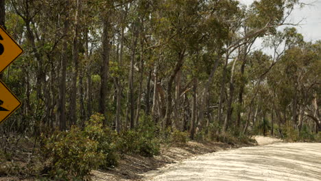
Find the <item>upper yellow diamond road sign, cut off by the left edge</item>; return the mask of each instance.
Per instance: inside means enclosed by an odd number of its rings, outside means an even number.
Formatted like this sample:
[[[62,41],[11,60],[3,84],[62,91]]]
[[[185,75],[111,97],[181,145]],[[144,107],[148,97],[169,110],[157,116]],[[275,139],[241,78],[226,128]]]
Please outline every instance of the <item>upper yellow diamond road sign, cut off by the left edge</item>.
[[[23,53],[23,49],[0,26],[0,73],[21,53]]]

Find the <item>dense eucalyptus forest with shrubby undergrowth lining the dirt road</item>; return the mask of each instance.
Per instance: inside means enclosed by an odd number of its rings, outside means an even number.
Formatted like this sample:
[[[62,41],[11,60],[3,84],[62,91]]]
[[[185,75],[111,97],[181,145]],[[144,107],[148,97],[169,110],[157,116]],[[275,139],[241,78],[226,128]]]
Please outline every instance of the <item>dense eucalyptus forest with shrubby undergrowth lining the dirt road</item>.
[[[189,141],[321,142],[321,41],[287,20],[300,5],[0,1],[24,49],[0,75],[23,102],[0,125],[0,177],[89,180]]]

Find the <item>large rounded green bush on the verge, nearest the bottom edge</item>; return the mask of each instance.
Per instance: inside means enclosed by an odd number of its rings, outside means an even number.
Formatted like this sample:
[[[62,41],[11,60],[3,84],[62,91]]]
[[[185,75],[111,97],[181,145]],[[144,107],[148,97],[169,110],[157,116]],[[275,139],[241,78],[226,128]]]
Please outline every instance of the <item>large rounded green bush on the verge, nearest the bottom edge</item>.
[[[102,164],[104,154],[97,151],[98,145],[75,127],[53,134],[42,148],[49,160],[49,176],[56,180],[83,180]]]

